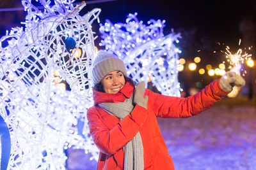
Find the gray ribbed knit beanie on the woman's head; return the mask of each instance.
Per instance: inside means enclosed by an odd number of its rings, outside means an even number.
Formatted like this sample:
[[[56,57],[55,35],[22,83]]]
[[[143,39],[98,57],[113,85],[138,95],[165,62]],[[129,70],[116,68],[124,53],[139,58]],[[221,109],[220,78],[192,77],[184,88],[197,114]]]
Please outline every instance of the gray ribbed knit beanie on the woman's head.
[[[92,81],[93,85],[99,83],[106,74],[111,71],[121,71],[127,76],[124,62],[115,55],[99,50],[92,64]]]

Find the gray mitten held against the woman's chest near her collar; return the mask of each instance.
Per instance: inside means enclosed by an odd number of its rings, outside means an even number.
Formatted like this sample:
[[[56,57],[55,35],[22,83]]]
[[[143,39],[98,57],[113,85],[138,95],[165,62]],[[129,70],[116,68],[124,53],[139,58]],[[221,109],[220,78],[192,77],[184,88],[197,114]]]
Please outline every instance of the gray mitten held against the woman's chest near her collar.
[[[144,97],[144,93],[145,82],[141,81],[135,89],[133,103],[138,104],[147,110],[148,96]]]

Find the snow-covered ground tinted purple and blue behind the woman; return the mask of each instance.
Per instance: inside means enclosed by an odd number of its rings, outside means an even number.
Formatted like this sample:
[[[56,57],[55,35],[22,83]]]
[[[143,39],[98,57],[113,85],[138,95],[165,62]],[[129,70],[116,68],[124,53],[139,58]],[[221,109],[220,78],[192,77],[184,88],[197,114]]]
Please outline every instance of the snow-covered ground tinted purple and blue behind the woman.
[[[158,118],[176,170],[256,169],[256,109],[213,106],[191,118]],[[69,170],[96,169],[83,150],[68,150]]]

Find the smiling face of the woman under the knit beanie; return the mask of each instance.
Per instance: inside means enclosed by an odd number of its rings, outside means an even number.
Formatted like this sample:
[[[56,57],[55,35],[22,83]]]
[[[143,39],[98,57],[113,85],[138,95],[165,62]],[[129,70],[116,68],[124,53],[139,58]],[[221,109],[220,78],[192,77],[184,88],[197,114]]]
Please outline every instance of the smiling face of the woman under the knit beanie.
[[[124,74],[121,71],[112,71],[101,80],[106,93],[116,94],[125,85]]]

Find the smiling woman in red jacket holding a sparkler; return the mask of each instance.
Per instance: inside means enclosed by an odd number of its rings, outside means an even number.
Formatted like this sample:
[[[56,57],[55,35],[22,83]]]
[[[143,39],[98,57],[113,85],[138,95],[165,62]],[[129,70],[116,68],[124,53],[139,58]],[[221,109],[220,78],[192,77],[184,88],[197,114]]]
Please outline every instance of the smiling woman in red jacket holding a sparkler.
[[[122,60],[100,50],[92,64],[94,106],[87,119],[99,148],[97,169],[169,169],[172,157],[157,124],[157,117],[186,118],[211,108],[233,85],[244,80],[234,72],[213,81],[187,98],[156,94],[127,78]]]

